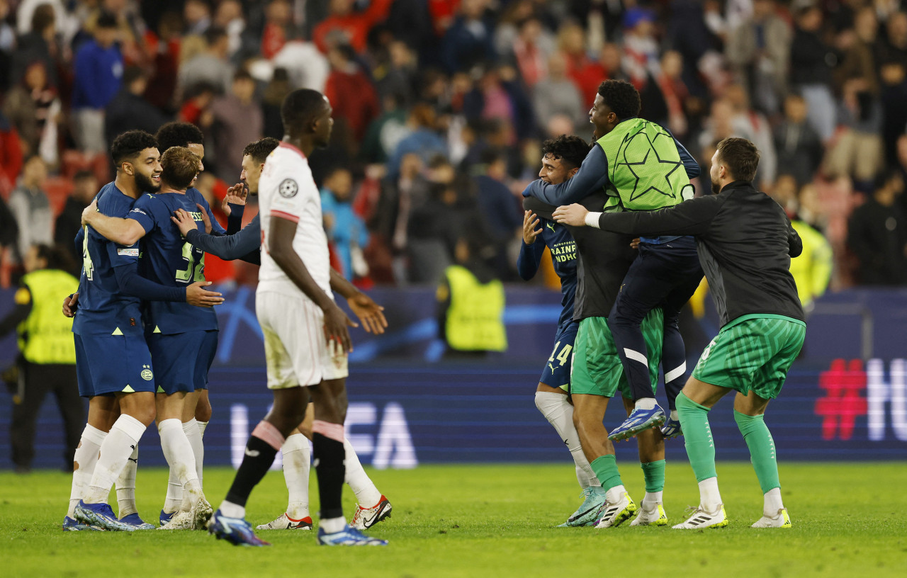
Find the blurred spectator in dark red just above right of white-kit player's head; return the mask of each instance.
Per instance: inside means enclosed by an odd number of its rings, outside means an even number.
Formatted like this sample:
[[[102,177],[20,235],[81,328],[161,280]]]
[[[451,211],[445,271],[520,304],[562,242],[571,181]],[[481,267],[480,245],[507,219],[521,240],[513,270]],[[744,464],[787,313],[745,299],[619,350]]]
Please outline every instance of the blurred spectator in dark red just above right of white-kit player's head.
[[[334,108],[334,120],[346,123],[352,139],[346,143],[350,151],[358,149],[368,124],[380,113],[375,87],[354,60],[355,56],[348,44],[330,48],[327,61],[331,63],[331,73],[325,85],[325,96]]]

